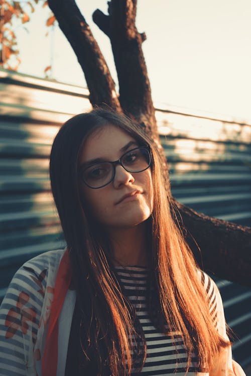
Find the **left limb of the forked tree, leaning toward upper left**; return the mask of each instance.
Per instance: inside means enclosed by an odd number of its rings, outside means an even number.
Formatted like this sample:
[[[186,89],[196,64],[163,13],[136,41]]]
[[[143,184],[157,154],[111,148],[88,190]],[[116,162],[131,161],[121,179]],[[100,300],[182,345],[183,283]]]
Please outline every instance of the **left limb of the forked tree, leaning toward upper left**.
[[[84,72],[91,104],[106,104],[120,112],[121,107],[107,64],[75,1],[48,0],[48,5]]]

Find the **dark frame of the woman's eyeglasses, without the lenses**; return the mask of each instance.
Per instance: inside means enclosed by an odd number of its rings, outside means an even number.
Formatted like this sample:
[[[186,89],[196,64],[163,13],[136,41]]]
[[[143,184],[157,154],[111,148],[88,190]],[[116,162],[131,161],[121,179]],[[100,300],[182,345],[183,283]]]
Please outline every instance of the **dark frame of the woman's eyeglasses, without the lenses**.
[[[147,166],[146,168],[144,168],[143,170],[139,170],[139,171],[131,171],[130,169],[124,167],[123,163],[121,162],[121,159],[122,159],[123,156],[126,155],[127,153],[130,153],[131,151],[138,150],[138,149],[144,149],[144,150],[146,150],[146,151],[148,152],[148,155],[149,155],[149,164],[148,164],[148,166]],[[87,182],[85,181],[84,176],[83,176],[83,175],[84,175],[84,172],[85,172],[88,168],[90,168],[90,167],[92,167],[92,166],[95,166],[96,164],[102,164],[102,163],[110,163],[110,164],[112,165],[112,167],[113,167],[113,172],[112,172],[112,175],[111,175],[111,178],[109,179],[109,181],[108,181],[107,183],[101,185],[101,186],[98,186],[98,187],[93,187],[93,186],[87,184]],[[135,147],[134,149],[131,149],[131,150],[126,151],[126,152],[123,153],[123,154],[120,156],[120,158],[117,159],[117,160],[114,160],[114,161],[109,161],[109,160],[107,160],[107,161],[103,161],[103,162],[99,162],[99,163],[93,163],[93,164],[90,164],[88,167],[84,168],[84,169],[80,172],[80,177],[81,177],[81,180],[85,183],[85,185],[87,185],[89,188],[91,188],[92,190],[98,190],[99,188],[102,188],[103,186],[108,185],[108,184],[114,179],[114,177],[115,177],[115,173],[116,173],[116,169],[115,169],[115,168],[116,168],[117,165],[122,166],[122,167],[123,167],[126,171],[128,171],[128,172],[131,172],[131,173],[138,173],[138,172],[143,172],[143,171],[147,170],[147,169],[151,166],[151,164],[152,164],[152,155],[151,155],[151,152],[150,152],[150,147],[147,147],[147,146],[138,146],[138,147]]]

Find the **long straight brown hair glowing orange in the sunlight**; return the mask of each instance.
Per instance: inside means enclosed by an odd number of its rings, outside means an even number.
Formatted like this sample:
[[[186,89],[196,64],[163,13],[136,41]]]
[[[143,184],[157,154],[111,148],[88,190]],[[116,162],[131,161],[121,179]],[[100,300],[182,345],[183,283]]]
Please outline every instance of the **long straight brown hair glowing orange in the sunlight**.
[[[140,126],[102,109],[68,120],[55,137],[50,157],[52,193],[83,316],[84,362],[86,366],[94,362],[97,375],[125,376],[133,368],[142,369],[147,351],[142,327],[113,268],[109,239],[88,218],[79,192],[78,158],[83,142],[94,129],[107,124],[120,127],[140,145],[151,148],[154,209],[147,220],[152,243],[149,314],[162,333],[180,333],[188,356],[187,371],[192,352],[198,355],[198,369],[210,369],[228,343],[213,326],[193,255],[172,218],[170,187],[165,184],[158,150]],[[134,348],[136,360],[131,352]]]

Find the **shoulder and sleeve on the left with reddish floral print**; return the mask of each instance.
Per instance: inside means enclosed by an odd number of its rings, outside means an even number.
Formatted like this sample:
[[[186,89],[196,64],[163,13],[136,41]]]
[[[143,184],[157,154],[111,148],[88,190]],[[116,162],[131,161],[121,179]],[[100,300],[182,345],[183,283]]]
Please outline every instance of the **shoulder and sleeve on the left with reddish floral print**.
[[[0,307],[0,368],[26,374],[33,369],[38,329],[48,318],[54,281],[64,250],[49,251],[27,261],[14,275]],[[42,320],[42,321],[41,321]],[[15,360],[15,369],[12,360]]]

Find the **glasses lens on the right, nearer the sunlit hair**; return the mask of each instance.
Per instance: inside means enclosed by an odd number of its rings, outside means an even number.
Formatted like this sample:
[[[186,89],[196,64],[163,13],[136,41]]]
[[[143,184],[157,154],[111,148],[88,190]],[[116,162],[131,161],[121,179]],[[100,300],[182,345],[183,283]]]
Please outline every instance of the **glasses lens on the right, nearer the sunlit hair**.
[[[144,171],[150,166],[150,153],[143,147],[130,150],[122,156],[121,163],[130,172]]]

